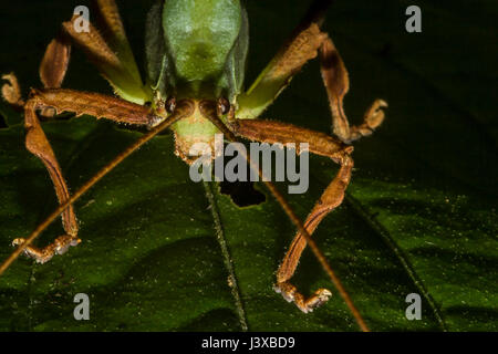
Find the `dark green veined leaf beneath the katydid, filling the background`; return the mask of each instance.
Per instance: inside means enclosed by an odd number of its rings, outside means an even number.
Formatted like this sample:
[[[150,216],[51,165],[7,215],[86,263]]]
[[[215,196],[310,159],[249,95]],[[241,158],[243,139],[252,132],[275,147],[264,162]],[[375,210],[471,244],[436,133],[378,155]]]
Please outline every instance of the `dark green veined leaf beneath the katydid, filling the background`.
[[[307,7],[286,4],[248,3],[248,83]],[[409,4],[336,1],[329,12],[325,30],[352,82],[350,119],[359,122],[376,97],[390,108],[383,126],[355,143],[346,199],[314,238],[372,330],[497,331],[497,6],[419,1],[423,32],[409,34]],[[9,51],[1,70],[15,71],[24,88],[39,86],[44,45],[74,6],[0,4],[9,14],[0,31],[15,33],[2,39]],[[149,3],[118,6],[139,59]],[[39,17],[45,8],[53,17]],[[77,52],[64,86],[111,92]],[[23,146],[22,116],[4,103],[0,113],[9,124],[0,128],[3,260],[11,240],[29,235],[56,200],[43,165]],[[263,116],[329,132],[318,64],[307,65]],[[43,127],[73,191],[141,135],[87,116]],[[289,197],[301,218],[338,170],[321,157],[310,163],[310,190]],[[156,137],[76,202],[79,247],[43,266],[20,258],[0,278],[0,330],[240,331],[245,323],[250,331],[357,331],[309,250],[294,283],[305,293],[329,288],[333,298],[303,314],[272,291],[295,230],[263,187],[266,201],[245,208],[208,187],[190,181],[170,135]],[[35,243],[61,233],[54,222]],[[90,296],[90,321],[73,317],[76,293]],[[422,296],[421,321],[405,317],[409,293]]]

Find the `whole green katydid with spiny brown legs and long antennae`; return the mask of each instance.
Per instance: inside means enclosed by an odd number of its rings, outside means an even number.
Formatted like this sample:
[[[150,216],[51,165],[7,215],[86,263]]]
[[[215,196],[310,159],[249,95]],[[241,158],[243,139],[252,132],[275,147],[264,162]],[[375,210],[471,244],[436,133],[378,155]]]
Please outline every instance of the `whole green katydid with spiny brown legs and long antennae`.
[[[156,1],[146,21],[145,80],[141,77],[113,0],[96,1],[106,31],[97,31],[92,23],[89,23],[89,31],[76,31],[75,22],[81,20],[77,15],[64,22],[61,34],[48,45],[40,65],[43,88],[32,88],[29,98],[23,100],[17,77],[13,74],[2,76],[7,81],[2,96],[23,110],[25,146],[45,165],[60,206],[28,238],[13,241],[18,248],[0,267],[0,274],[20,253],[44,263],[54,254],[62,254],[71,246],[79,244],[81,240],[74,201],[129,154],[166,128],[175,135],[175,154],[187,164],[193,164],[198,157],[191,155],[194,144],[212,145],[215,134],[219,133],[230,142],[246,138],[282,145],[308,143],[311,153],[331,158],[340,165],[340,169],[304,222],[300,221],[273,184],[263,180],[297,227],[297,235],[279,267],[274,290],[287,301],[294,302],[304,313],[328,301],[331,295],[329,290],[319,289],[305,298],[290,282],[308,244],[344,298],[360,327],[366,331],[364,320],[311,235],[321,220],[343,200],[353,168],[351,143],[373,133],[383,122],[383,108],[387,105],[376,100],[366,111],[362,124],[349,124],[343,111],[343,97],[349,90],[347,72],[332,40],[320,29],[330,2],[313,2],[290,39],[247,91],[243,90],[243,79],[249,49],[249,21],[241,1]],[[117,97],[61,88],[73,44],[87,55]],[[293,75],[317,56],[330,103],[333,135],[282,122],[259,119],[289,85]],[[40,115],[53,116],[61,112],[143,126],[149,132],[70,195],[39,119]],[[250,157],[246,158],[250,164]],[[261,175],[260,170],[258,173]],[[31,246],[60,215],[65,233],[44,248]]]

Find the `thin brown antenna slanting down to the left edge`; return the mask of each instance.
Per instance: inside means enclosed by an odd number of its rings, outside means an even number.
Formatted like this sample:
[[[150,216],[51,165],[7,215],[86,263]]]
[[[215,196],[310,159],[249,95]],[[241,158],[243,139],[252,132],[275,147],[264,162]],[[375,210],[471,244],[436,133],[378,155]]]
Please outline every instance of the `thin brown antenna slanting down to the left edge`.
[[[158,124],[156,127],[151,129],[148,133],[141,136],[135,143],[128,146],[125,150],[123,150],[118,156],[116,156],[112,162],[105,165],[101,170],[98,170],[90,180],[87,180],[83,186],[80,187],[76,192],[74,192],[65,202],[61,204],[43,222],[41,222],[31,235],[24,240],[22,244],[20,244],[15,251],[13,251],[9,258],[7,258],[3,263],[0,266],[0,275],[10,267],[10,264],[22,253],[22,251],[31,244],[31,242],[40,236],[40,233],[49,227],[49,225],[55,220],[59,215],[64,211],[71,204],[75,202],[83,196],[90,188],[92,188],[98,180],[102,179],[105,175],[107,175],[114,167],[120,165],[126,157],[133,154],[136,149],[138,149],[142,145],[151,140],[158,133],[163,132],[167,127],[169,127],[175,122],[187,116],[191,111],[191,106],[189,103],[185,103],[184,105],[178,104],[175,112]]]

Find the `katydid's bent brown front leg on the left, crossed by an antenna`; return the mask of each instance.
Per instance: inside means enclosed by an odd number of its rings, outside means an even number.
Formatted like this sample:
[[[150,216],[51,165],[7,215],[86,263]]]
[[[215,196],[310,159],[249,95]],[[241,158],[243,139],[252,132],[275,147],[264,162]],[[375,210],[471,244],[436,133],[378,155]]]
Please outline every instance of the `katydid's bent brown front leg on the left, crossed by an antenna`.
[[[154,126],[160,119],[152,114],[148,107],[102,94],[63,88],[32,90],[31,97],[24,104],[25,146],[45,165],[60,204],[69,200],[70,194],[61,167],[37,116],[37,111],[45,107],[53,107],[56,113],[70,111],[75,112],[76,115],[90,114],[97,118],[105,116],[115,122],[135,125]],[[28,246],[24,250],[25,254],[44,263],[54,254],[65,252],[70,246],[80,243],[77,221],[72,205],[62,212],[62,225],[65,235],[43,249]],[[24,239],[13,240],[15,246],[23,242]]]

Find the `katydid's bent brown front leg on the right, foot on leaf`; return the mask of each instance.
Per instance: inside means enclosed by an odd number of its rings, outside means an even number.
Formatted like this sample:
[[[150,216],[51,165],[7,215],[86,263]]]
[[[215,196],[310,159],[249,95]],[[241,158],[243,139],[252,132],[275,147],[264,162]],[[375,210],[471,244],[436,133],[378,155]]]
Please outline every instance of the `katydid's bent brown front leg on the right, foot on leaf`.
[[[237,135],[251,140],[270,144],[308,143],[311,153],[328,156],[341,165],[338,175],[317,201],[304,222],[304,228],[311,236],[320,221],[341,205],[344,198],[344,190],[350,183],[353,168],[353,159],[350,156],[353,147],[326,134],[280,122],[236,119],[230,123],[230,127]],[[274,290],[281,293],[287,301],[293,301],[301,311],[308,313],[329,300],[331,292],[326,289],[319,289],[307,299],[289,282],[305,246],[305,238],[298,232],[278,270]]]

